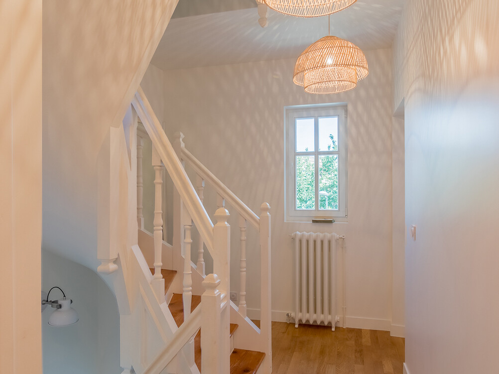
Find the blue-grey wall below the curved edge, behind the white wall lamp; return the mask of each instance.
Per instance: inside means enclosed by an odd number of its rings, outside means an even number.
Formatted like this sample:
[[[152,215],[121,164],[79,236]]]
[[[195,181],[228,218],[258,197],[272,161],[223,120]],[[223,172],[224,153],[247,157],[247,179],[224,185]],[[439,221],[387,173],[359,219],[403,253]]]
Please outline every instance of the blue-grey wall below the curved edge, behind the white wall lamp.
[[[54,309],[43,311],[44,373],[121,373],[118,305],[107,285],[90,269],[45,250],[42,275],[42,290],[62,288],[79,317],[74,325],[53,327],[48,318]],[[61,297],[57,289],[50,293],[51,300]]]

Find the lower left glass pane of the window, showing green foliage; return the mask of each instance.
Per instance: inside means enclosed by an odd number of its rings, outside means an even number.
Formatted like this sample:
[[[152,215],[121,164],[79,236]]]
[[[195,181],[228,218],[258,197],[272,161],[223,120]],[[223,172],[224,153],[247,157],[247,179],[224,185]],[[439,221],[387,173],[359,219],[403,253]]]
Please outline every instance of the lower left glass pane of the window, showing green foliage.
[[[296,209],[315,209],[314,156],[296,156]]]

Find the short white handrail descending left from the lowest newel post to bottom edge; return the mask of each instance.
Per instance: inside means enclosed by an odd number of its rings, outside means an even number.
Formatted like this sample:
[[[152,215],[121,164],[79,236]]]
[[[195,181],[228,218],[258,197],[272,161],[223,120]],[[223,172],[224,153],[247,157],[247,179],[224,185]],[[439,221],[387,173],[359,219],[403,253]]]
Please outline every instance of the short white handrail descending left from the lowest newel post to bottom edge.
[[[190,317],[179,327],[168,345],[161,351],[154,361],[144,370],[143,374],[161,373],[170,364],[179,351],[201,328],[201,306],[198,306]]]

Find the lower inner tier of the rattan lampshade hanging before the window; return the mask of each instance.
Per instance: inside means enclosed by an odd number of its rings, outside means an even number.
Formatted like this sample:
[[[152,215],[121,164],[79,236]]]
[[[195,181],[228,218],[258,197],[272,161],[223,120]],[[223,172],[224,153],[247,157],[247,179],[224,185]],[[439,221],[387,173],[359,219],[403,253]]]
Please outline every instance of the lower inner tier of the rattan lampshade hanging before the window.
[[[357,71],[345,66],[321,67],[303,74],[305,92],[333,94],[349,91],[357,86]]]

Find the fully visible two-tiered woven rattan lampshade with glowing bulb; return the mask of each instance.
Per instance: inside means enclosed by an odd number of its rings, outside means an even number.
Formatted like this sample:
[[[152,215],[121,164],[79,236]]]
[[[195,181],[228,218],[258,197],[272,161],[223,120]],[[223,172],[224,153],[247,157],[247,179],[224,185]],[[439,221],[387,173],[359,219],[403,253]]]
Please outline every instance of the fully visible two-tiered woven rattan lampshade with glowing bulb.
[[[293,82],[306,92],[331,94],[348,91],[369,74],[366,56],[355,44],[324,36],[305,49],[294,66]]]

